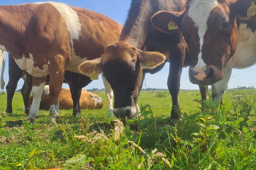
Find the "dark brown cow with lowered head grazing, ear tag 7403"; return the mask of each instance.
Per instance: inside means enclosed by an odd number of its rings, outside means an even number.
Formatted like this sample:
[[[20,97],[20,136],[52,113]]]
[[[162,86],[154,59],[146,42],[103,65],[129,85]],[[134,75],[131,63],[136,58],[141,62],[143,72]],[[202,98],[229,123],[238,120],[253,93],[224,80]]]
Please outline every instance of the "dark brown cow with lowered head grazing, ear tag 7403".
[[[114,92],[116,117],[133,118],[139,114],[137,100],[145,72],[159,71],[169,61],[167,85],[172,96],[171,118],[180,118],[178,94],[182,67],[188,63],[184,64],[187,44],[180,31],[166,35],[151,25],[150,18],[159,10],[181,12],[184,5],[183,0],[132,0],[119,42],[108,45],[101,58],[79,66],[88,76],[93,71],[103,73]]]

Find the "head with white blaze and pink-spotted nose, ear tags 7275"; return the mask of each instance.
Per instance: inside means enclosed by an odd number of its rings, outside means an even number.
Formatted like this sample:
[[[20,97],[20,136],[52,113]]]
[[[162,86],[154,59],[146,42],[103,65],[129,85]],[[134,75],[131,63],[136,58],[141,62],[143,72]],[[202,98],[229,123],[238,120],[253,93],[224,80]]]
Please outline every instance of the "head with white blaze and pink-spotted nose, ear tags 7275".
[[[211,85],[223,78],[223,68],[235,53],[238,30],[235,18],[246,17],[254,0],[189,0],[181,13],[160,11],[151,22],[169,33],[174,21],[184,35],[190,54],[189,79],[194,84]],[[255,17],[255,16],[254,16]]]

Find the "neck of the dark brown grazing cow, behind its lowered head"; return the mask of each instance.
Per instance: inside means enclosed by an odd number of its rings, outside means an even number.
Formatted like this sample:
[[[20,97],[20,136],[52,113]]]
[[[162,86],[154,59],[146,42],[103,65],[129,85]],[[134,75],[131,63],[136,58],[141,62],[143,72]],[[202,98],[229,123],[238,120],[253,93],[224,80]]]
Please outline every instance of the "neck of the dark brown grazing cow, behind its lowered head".
[[[156,4],[155,2],[154,4]],[[121,32],[119,42],[128,42],[142,49],[147,37],[147,26],[152,16],[152,2],[132,0],[128,17]]]

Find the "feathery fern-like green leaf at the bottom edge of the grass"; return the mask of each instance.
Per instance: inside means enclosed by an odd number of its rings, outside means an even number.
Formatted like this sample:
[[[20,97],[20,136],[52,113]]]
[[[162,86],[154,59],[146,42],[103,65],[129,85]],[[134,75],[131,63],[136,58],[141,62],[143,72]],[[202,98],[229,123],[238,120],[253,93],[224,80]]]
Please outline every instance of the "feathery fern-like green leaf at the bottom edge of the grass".
[[[92,157],[87,157],[84,154],[78,154],[73,158],[70,158],[69,160],[67,160],[61,170],[79,170],[82,165],[84,165],[86,162],[90,162],[93,161]]]

